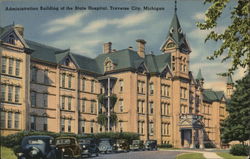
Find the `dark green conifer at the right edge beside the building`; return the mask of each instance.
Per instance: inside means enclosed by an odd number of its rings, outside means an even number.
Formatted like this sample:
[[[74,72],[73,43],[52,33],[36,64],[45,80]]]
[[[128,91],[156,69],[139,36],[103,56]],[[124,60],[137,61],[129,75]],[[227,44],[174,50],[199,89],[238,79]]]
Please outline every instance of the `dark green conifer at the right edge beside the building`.
[[[222,141],[238,140],[242,143],[250,137],[250,73],[237,81],[236,90],[227,102],[228,117],[222,123]]]

